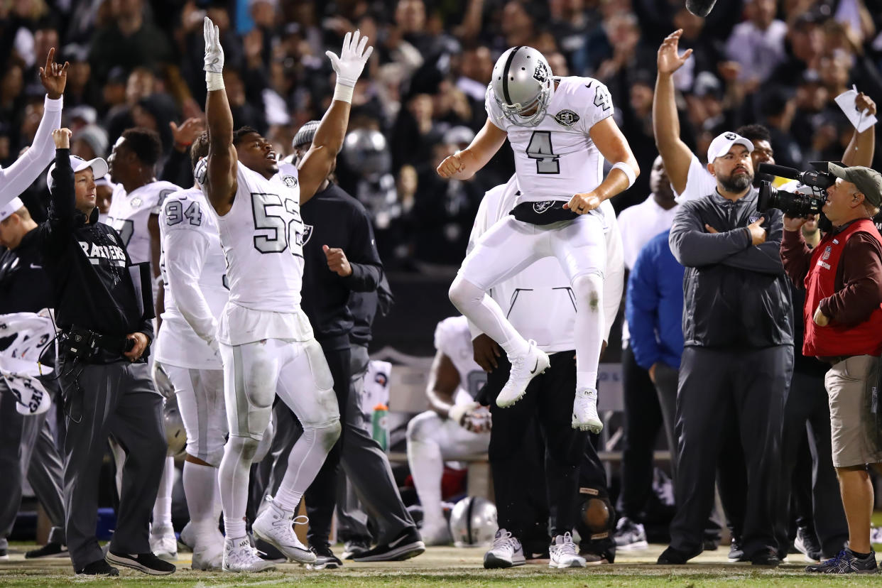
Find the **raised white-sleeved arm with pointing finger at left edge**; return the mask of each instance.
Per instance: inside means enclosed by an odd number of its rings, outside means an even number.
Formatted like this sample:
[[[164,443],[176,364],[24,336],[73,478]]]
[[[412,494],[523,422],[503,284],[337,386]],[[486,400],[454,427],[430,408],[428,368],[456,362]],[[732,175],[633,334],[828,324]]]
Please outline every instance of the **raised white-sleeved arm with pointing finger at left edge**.
[[[55,156],[55,142],[52,131],[61,126],[61,110],[64,106],[64,86],[67,83],[68,63],[55,63],[55,48],[49,49],[45,67],[40,68],[40,80],[46,88],[46,100],[43,102],[43,117],[34,142],[18,160],[4,169],[0,169],[0,206],[9,203],[27,190],[34,180],[52,163]]]

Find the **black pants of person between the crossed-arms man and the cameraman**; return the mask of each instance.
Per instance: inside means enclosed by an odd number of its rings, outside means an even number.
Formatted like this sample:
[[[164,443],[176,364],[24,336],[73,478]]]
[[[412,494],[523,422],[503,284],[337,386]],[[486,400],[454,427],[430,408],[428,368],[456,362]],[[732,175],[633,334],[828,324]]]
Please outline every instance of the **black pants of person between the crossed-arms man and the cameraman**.
[[[800,451],[808,441],[811,451],[811,477],[796,471]],[[833,469],[830,446],[830,406],[824,388],[824,376],[795,372],[784,409],[784,430],[781,440],[781,507],[779,510],[779,547],[789,547],[789,504],[791,480],[802,480],[808,487],[793,488],[793,494],[811,493],[807,505],[811,512],[805,523],[813,520],[810,532],[816,532],[824,556],[838,554],[848,540],[848,525],[839,492],[839,481]],[[798,483],[798,482],[795,482]],[[806,502],[804,499],[801,502]]]

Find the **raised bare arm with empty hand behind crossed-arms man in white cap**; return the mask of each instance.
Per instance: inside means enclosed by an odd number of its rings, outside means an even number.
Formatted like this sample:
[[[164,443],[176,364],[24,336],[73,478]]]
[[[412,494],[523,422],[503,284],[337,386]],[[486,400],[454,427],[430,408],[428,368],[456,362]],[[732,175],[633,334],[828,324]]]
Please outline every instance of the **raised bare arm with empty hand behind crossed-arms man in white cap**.
[[[686,49],[682,56],[677,51],[683,29],[670,33],[658,52],[658,77],[655,78],[653,100],[653,133],[655,146],[664,161],[671,185],[677,194],[686,189],[689,178],[689,164],[692,153],[680,138],[680,119],[676,113],[674,97],[674,72],[686,63],[692,49]]]

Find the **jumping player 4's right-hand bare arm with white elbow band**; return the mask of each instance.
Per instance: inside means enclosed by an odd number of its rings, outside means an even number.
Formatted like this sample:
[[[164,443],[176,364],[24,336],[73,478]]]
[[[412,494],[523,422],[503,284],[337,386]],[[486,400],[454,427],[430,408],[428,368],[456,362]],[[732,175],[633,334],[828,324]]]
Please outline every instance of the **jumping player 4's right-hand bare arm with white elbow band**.
[[[628,140],[611,116],[594,124],[588,134],[604,159],[613,164],[613,168],[597,188],[573,195],[570,202],[564,205],[564,208],[579,214],[593,211],[604,200],[624,192],[640,175],[640,167],[631,151],[631,145],[628,145]]]

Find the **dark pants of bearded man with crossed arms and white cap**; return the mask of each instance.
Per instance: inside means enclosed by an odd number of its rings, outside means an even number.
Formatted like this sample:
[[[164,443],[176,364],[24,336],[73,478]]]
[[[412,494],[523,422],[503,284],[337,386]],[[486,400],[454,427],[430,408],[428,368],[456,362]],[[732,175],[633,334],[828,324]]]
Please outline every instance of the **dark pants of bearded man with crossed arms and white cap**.
[[[748,480],[744,555],[777,549],[781,421],[792,372],[792,346],[684,349],[676,398],[678,458],[671,547],[690,556],[701,552],[714,505],[714,472],[727,428],[736,426]]]

